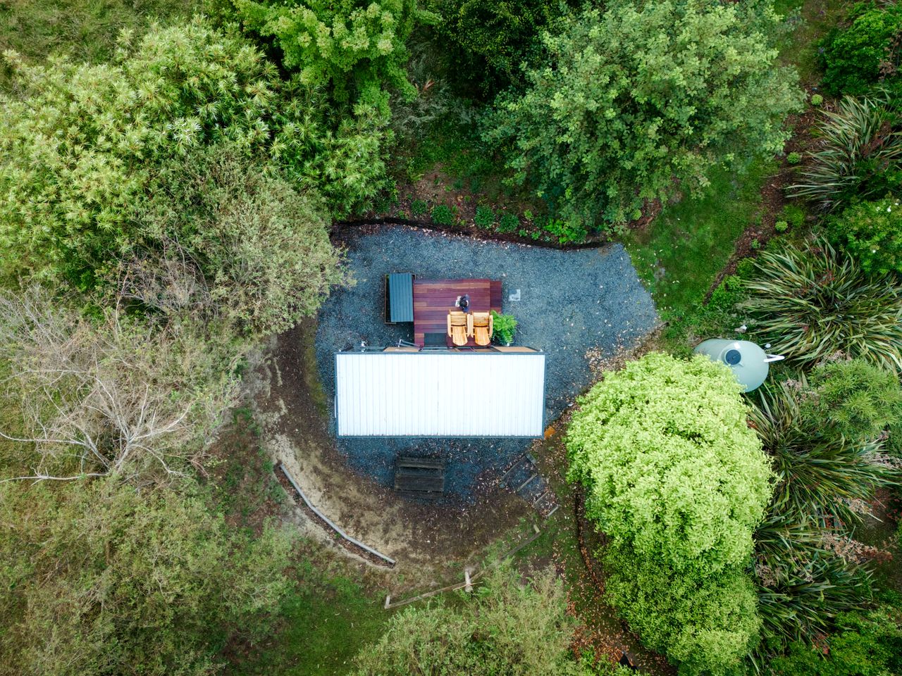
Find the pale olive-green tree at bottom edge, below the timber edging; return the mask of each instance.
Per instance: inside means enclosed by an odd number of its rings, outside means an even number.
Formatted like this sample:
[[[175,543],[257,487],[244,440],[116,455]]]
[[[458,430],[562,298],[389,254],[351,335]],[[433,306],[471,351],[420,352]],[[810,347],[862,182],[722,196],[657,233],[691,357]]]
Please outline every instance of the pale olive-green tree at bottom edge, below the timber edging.
[[[570,620],[550,571],[522,585],[510,563],[459,607],[440,600],[391,617],[382,639],[358,654],[359,676],[557,676],[572,673]]]

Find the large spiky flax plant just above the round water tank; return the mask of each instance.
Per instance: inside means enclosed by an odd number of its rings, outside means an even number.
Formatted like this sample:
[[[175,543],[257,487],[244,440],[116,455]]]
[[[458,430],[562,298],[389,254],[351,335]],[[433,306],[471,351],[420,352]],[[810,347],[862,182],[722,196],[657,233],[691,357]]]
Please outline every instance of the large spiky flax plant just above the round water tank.
[[[902,287],[871,277],[824,240],[765,251],[741,306],[776,352],[801,362],[836,352],[902,370]]]

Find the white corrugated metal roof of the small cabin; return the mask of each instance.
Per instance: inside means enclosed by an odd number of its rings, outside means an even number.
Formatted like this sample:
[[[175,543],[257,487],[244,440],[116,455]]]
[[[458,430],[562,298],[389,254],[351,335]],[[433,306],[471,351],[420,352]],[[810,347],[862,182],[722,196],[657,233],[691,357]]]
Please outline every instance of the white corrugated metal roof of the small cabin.
[[[339,352],[339,436],[541,436],[545,354]]]

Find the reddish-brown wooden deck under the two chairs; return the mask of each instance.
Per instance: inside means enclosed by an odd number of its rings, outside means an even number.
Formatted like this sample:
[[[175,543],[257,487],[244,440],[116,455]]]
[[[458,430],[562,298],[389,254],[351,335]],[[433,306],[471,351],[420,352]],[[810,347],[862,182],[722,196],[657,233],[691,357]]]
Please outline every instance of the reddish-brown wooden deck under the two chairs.
[[[420,347],[426,333],[441,333],[446,345],[453,347],[447,335],[448,312],[456,309],[458,296],[469,294],[470,312],[502,311],[502,283],[498,279],[414,279],[413,342]],[[466,344],[475,347],[473,338]]]

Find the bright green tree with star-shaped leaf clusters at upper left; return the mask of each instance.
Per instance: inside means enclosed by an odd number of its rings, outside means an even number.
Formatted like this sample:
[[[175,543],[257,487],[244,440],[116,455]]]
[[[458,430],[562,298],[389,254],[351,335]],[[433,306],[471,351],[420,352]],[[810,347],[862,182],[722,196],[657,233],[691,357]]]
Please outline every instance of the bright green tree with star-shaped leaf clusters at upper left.
[[[144,233],[134,205],[155,169],[227,142],[262,153],[342,211],[382,180],[381,120],[360,106],[331,122],[315,87],[285,83],[253,46],[195,20],[126,39],[113,64],[14,53],[21,96],[0,97],[0,275],[90,289]],[[316,201],[316,200],[314,200]]]

